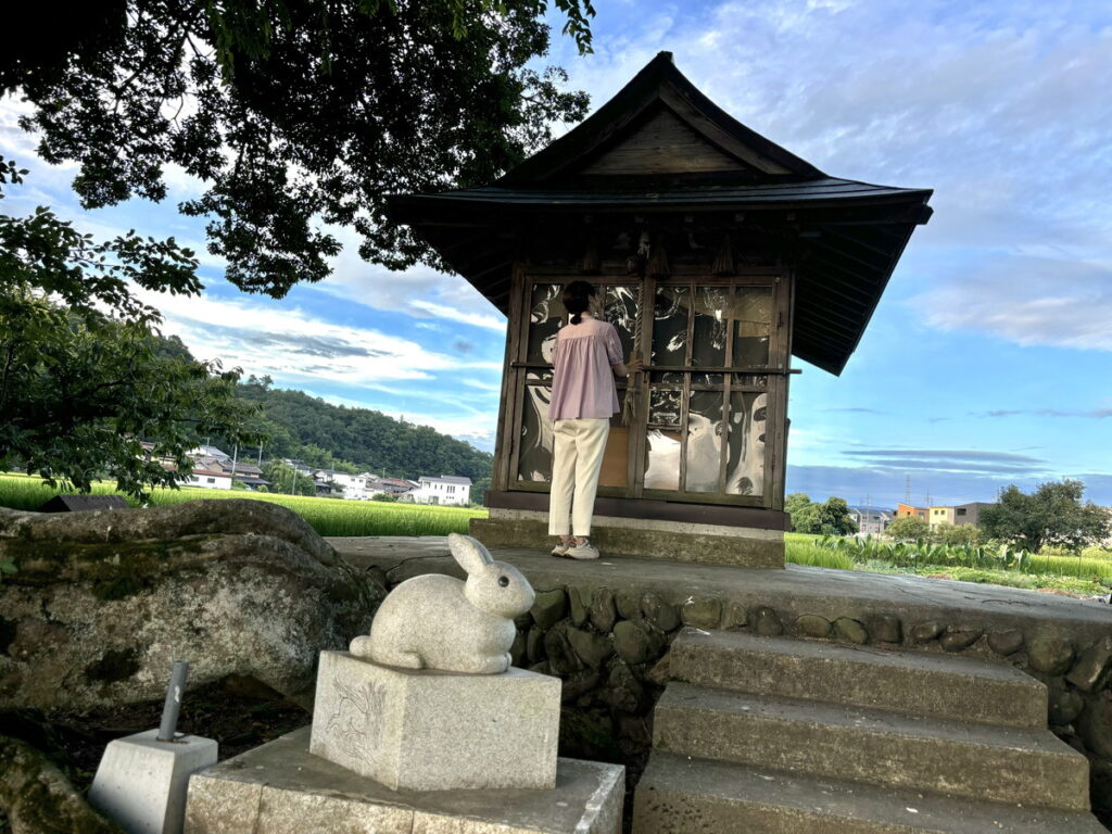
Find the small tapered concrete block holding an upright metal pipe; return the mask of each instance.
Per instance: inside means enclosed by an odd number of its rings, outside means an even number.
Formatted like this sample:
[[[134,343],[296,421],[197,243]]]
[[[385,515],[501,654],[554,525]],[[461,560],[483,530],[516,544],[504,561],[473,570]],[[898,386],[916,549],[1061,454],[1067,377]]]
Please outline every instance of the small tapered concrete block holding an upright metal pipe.
[[[180,834],[190,774],[217,761],[217,743],[196,735],[157,741],[148,729],[108,743],[89,802],[128,834]]]

